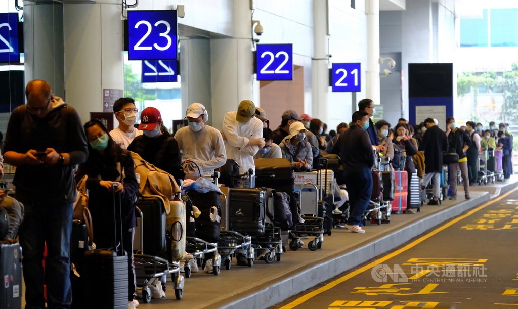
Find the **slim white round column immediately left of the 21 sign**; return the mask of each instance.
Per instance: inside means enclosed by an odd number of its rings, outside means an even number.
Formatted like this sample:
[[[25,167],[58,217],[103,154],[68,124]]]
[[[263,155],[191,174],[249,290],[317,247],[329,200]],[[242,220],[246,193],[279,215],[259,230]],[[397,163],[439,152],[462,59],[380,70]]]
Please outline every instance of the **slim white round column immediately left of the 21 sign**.
[[[311,116],[327,122],[329,66],[327,1],[313,1],[313,58],[311,60]]]

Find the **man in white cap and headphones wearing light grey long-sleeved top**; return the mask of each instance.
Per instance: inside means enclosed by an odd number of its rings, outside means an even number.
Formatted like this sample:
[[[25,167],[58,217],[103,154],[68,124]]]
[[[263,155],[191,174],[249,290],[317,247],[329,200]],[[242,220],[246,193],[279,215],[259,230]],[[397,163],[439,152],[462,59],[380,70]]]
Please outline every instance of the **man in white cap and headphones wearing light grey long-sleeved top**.
[[[203,174],[212,174],[214,169],[226,162],[221,133],[206,124],[209,115],[202,104],[191,104],[185,115],[189,126],[179,129],[175,134],[183,160],[193,160]]]

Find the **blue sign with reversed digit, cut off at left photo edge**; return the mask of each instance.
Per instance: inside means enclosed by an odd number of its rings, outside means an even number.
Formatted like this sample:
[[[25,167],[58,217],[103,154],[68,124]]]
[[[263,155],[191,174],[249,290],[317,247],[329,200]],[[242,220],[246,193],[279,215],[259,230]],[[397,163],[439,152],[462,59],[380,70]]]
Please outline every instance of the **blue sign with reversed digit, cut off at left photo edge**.
[[[0,13],[0,62],[20,62],[18,13]]]

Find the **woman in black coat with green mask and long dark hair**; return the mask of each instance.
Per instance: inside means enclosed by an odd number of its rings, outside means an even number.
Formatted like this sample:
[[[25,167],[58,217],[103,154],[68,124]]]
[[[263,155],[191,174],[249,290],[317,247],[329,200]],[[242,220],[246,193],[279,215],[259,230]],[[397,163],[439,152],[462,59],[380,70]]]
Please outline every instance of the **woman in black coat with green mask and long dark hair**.
[[[97,248],[116,248],[116,244],[113,243],[115,226],[112,190],[120,193],[122,248],[128,254],[128,302],[132,303],[136,289],[133,235],[136,223],[135,201],[138,194],[133,158],[129,151],[116,145],[101,122],[87,122],[84,131],[87,135],[89,155],[87,161],[79,165],[76,181],[88,175],[88,208],[92,215],[94,242]]]

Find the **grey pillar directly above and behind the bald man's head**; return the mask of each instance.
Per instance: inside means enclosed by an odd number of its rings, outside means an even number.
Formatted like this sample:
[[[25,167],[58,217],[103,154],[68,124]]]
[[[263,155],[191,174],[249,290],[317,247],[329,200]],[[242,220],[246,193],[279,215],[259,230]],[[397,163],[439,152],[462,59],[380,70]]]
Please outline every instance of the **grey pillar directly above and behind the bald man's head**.
[[[63,4],[25,3],[23,34],[25,83],[46,80],[55,95],[64,97]]]

